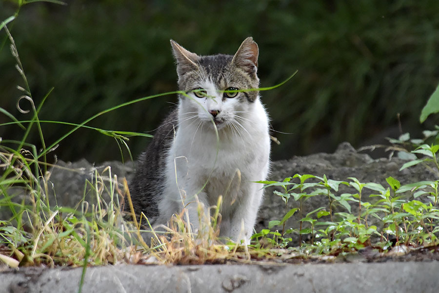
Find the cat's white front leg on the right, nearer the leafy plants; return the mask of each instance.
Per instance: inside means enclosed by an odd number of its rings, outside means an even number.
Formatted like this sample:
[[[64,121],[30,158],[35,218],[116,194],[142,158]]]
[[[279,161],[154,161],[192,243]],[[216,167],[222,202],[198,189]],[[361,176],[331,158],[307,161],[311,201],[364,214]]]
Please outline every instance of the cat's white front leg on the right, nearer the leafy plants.
[[[262,200],[263,190],[256,183],[249,182],[241,187],[242,194],[235,213],[232,215],[230,238],[236,242],[250,244],[250,237],[256,222],[256,216]]]

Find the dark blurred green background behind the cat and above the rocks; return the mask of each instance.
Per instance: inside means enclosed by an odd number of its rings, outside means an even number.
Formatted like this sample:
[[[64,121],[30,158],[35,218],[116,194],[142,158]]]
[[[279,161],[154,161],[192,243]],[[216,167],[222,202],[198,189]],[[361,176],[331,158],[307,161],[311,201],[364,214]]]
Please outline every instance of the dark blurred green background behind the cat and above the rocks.
[[[262,92],[281,145],[273,159],[333,151],[419,133],[419,113],[439,82],[438,0],[72,0],[29,3],[8,27],[15,39],[40,119],[80,123],[100,110],[177,89],[169,39],[198,54],[234,54],[253,36],[259,44]],[[0,0],[0,20],[17,1]],[[23,86],[4,30],[0,31],[0,106],[20,120]],[[90,123],[110,130],[154,130],[176,103],[167,96],[130,105]],[[25,102],[20,105],[28,108]],[[437,119],[436,119],[437,120]],[[0,115],[0,123],[9,119]],[[43,125],[46,145],[70,126]],[[151,132],[148,132],[151,133]],[[0,127],[20,139],[17,126]],[[40,146],[35,131],[29,142]],[[137,156],[148,138],[128,143]],[[120,159],[113,138],[80,129],[49,157],[91,162]],[[126,154],[125,154],[126,155]]]

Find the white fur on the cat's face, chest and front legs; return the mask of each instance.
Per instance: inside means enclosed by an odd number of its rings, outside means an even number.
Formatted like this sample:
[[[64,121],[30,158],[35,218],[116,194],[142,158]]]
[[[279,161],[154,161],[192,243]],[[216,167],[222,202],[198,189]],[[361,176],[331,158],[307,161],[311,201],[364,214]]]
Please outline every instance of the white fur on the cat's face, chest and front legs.
[[[265,180],[269,169],[267,113],[259,97],[253,103],[241,103],[236,97],[223,100],[223,93],[213,83],[200,87],[208,97],[190,93],[193,99],[180,99],[179,127],[166,162],[167,185],[155,224],[165,224],[182,210],[184,202],[190,223],[198,230],[195,195],[205,215],[222,195],[220,235],[248,244],[262,200],[262,186],[252,181]],[[220,111],[219,141],[211,110]]]

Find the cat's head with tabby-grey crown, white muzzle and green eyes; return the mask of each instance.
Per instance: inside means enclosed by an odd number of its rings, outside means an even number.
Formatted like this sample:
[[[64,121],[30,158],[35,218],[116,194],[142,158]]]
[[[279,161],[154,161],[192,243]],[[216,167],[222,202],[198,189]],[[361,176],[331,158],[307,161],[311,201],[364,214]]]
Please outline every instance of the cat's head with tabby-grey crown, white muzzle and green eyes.
[[[180,95],[184,113],[197,115],[198,120],[209,125],[213,119],[219,129],[247,116],[244,113],[258,99],[258,91],[239,90],[259,87],[256,74],[259,50],[251,37],[242,42],[233,56],[199,56],[172,40],[171,45],[177,60],[180,90],[193,98]]]

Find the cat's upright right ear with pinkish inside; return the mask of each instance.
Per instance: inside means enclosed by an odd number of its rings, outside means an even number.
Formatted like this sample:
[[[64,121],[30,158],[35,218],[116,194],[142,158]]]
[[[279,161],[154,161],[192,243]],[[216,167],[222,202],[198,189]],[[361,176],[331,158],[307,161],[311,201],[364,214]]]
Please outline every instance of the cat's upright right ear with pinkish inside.
[[[258,70],[258,55],[258,44],[253,41],[252,37],[248,37],[239,46],[238,51],[233,56],[232,63],[235,63],[253,76]]]

